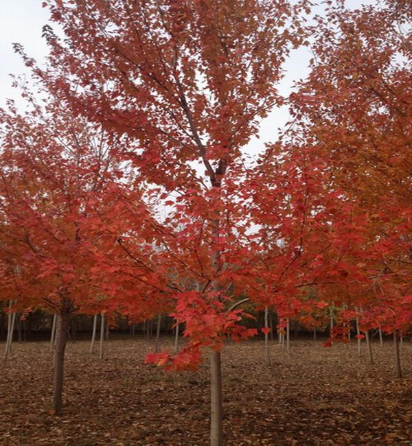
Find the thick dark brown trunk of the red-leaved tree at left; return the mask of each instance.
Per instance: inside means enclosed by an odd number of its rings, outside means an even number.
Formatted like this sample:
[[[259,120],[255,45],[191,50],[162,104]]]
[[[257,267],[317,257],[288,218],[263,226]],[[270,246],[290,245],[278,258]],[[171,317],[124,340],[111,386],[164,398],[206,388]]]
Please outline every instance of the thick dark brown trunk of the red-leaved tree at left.
[[[69,327],[70,312],[62,310],[58,313],[58,331],[56,351],[54,353],[54,390],[53,410],[54,414],[60,414],[62,410],[63,368],[65,364],[65,349],[67,343],[67,329]]]

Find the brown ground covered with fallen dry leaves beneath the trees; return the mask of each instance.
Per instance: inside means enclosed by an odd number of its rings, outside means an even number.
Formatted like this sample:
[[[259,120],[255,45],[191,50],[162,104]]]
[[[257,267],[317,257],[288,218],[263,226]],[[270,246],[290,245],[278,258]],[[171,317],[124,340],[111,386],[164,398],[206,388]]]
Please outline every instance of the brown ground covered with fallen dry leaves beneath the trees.
[[[65,412],[53,416],[48,343],[15,344],[0,364],[0,445],[207,445],[207,364],[165,375],[143,364],[152,348],[110,340],[100,360],[89,342],[69,342]],[[263,349],[249,341],[222,352],[227,445],[412,445],[410,341],[403,379],[393,377],[389,340],[374,344],[374,365],[356,344],[297,340],[288,355],[273,341],[270,368]]]

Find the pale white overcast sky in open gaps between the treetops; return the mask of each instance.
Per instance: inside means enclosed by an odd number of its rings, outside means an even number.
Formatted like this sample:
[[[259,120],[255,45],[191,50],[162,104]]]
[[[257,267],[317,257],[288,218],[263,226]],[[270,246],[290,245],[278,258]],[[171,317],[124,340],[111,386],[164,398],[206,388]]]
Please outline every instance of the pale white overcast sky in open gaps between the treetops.
[[[43,0],[0,0],[0,107],[5,106],[5,99],[14,99],[16,104],[23,104],[19,99],[19,91],[11,88],[10,73],[28,75],[27,68],[18,54],[12,49],[12,43],[21,43],[27,54],[38,62],[47,56],[45,40],[41,38],[41,30],[49,18],[47,9],[41,7]],[[376,3],[376,0],[347,0],[350,8],[362,4]],[[304,78],[308,72],[310,54],[307,49],[294,51],[285,64],[286,77],[279,85],[283,95],[290,94],[290,86],[295,80]],[[276,130],[288,120],[286,108],[274,110],[263,122],[260,130],[260,141],[253,139],[249,144],[251,152],[258,152],[262,143],[274,141]],[[249,150],[248,150],[249,152]]]

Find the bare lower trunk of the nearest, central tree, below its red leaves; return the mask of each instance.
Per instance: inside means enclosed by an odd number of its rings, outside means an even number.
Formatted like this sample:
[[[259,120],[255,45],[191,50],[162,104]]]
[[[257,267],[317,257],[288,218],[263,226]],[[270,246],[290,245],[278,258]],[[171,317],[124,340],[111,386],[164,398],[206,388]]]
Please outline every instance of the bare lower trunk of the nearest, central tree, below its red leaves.
[[[210,353],[210,446],[223,444],[222,369],[220,352]]]

